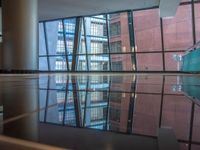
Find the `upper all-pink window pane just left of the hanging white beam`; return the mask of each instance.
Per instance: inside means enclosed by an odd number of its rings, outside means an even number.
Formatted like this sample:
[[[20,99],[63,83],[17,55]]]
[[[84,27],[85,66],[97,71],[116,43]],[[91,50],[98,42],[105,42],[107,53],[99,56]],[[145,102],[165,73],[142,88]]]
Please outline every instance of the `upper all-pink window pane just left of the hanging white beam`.
[[[133,12],[136,50],[161,51],[161,30],[158,9]]]

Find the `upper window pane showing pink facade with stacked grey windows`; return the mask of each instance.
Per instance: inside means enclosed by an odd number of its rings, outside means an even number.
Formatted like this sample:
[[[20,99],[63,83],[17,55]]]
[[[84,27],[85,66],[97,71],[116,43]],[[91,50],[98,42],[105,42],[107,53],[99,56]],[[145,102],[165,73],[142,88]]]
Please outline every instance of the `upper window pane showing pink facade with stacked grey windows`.
[[[110,14],[108,15],[108,18],[110,29],[110,52],[131,52],[127,13]]]

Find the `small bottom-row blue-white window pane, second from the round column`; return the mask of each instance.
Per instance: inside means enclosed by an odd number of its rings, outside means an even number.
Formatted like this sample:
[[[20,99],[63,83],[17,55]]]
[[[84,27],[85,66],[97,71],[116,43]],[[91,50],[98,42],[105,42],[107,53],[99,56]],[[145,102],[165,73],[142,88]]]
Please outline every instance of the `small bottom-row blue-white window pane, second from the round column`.
[[[50,69],[55,70],[67,70],[67,63],[65,56],[49,57]]]

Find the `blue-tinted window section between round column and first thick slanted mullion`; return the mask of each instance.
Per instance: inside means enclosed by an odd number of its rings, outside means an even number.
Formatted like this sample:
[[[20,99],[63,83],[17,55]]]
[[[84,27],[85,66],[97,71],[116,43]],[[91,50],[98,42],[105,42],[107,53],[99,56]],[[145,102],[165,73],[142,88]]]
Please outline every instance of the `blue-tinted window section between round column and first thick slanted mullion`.
[[[75,24],[75,19],[39,23],[39,70],[71,70]]]

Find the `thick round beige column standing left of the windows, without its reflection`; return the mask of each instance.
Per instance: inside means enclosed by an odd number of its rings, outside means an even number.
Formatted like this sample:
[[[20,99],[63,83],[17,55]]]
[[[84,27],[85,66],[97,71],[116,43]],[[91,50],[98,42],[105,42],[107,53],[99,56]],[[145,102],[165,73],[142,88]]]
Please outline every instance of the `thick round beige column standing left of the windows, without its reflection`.
[[[3,70],[38,70],[38,1],[2,1]]]

